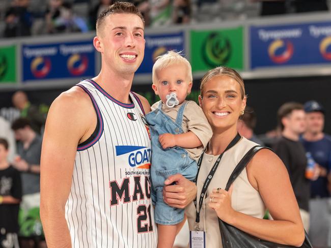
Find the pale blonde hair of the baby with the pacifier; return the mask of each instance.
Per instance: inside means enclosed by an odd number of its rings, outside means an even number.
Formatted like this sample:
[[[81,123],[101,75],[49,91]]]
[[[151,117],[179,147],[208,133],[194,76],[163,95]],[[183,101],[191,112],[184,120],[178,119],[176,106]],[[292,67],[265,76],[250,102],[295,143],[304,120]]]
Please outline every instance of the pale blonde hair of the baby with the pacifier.
[[[187,67],[187,76],[189,81],[191,82],[192,79],[192,68],[189,64],[188,60],[183,57],[181,52],[176,52],[174,50],[168,51],[167,53],[160,55],[156,58],[156,61],[153,66],[153,72],[152,72],[152,80],[153,84],[157,83],[157,72],[160,70],[163,70],[171,65],[181,64],[183,63]]]

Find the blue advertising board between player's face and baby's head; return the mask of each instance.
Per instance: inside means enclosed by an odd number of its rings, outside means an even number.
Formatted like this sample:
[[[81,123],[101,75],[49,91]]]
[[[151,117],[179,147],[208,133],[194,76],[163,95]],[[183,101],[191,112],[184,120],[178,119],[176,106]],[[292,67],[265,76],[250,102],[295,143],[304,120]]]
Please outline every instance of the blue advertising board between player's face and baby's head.
[[[144,60],[136,73],[151,73],[155,58],[169,50],[183,51],[185,54],[184,32],[145,35],[145,40]]]

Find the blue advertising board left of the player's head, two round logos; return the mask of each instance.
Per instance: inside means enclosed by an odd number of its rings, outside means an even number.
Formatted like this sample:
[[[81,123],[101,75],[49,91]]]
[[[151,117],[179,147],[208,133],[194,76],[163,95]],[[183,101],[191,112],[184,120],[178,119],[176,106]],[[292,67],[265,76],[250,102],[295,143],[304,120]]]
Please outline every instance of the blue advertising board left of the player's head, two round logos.
[[[22,46],[23,81],[95,75],[92,41]]]

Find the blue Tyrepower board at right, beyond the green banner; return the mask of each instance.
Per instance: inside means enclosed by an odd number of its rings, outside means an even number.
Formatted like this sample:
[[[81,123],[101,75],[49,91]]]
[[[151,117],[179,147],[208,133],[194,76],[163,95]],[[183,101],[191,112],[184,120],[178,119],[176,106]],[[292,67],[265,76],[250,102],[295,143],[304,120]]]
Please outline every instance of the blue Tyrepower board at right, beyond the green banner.
[[[331,22],[252,26],[251,68],[331,63]]]

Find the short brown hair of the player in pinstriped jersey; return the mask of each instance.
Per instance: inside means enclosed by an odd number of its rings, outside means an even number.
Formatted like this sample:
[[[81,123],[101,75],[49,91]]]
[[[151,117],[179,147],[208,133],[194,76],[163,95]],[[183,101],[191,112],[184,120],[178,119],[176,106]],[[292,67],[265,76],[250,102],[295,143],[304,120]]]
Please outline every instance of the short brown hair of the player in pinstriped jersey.
[[[105,18],[113,14],[135,14],[142,19],[145,25],[145,19],[142,13],[132,3],[116,2],[113,5],[109,6],[107,9],[105,9],[104,11],[102,11],[98,16],[96,23],[97,33],[98,33],[98,29],[100,29],[100,27],[102,26]]]

